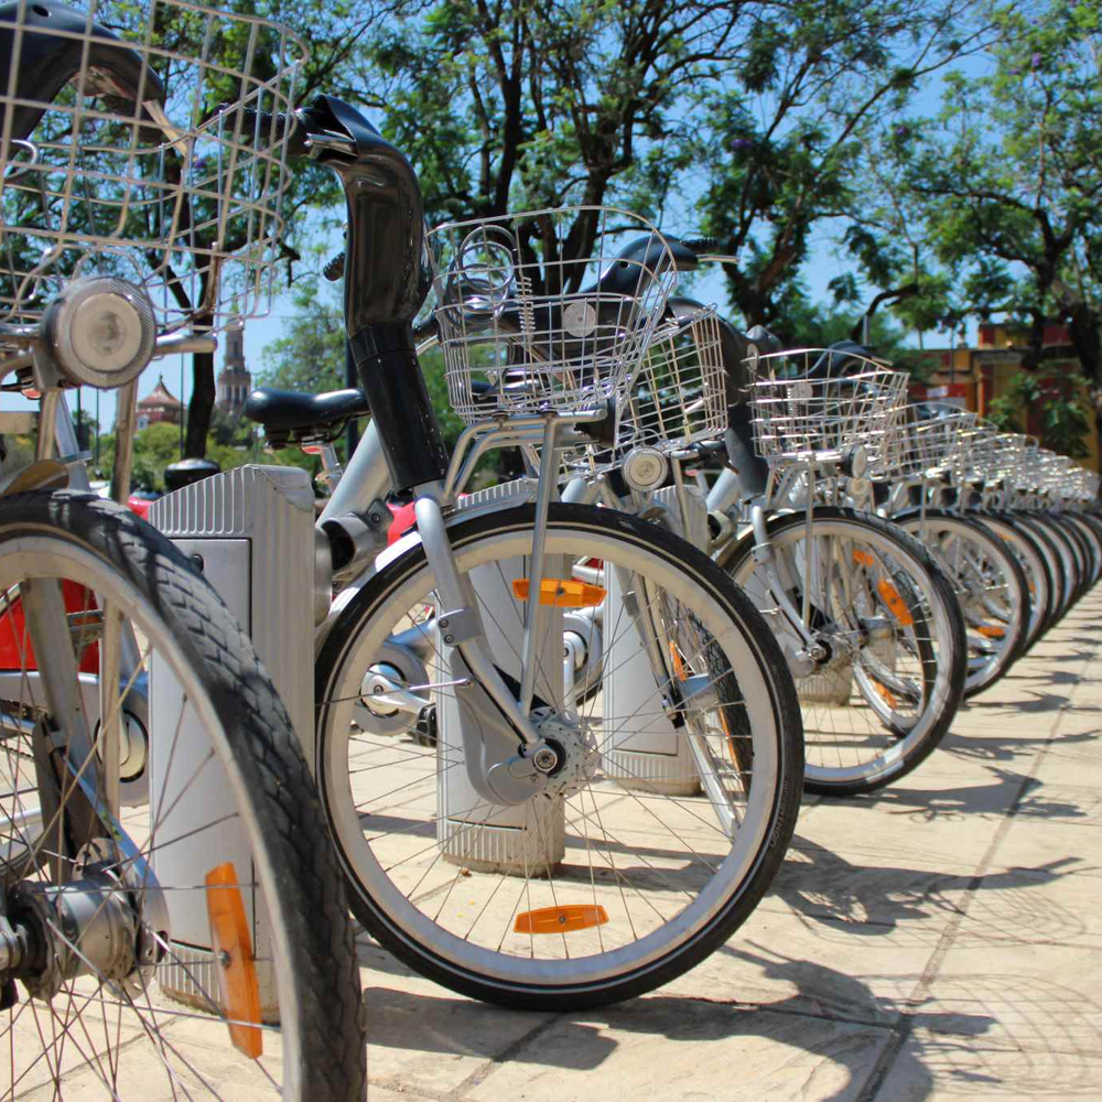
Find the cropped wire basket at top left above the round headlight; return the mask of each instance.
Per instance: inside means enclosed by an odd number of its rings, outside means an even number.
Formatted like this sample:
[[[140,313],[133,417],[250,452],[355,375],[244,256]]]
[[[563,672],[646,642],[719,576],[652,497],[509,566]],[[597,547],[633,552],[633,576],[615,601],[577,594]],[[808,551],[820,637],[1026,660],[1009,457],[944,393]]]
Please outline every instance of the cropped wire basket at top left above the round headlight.
[[[20,0],[4,52],[0,322],[89,274],[143,287],[162,331],[267,311],[298,39],[182,0]]]

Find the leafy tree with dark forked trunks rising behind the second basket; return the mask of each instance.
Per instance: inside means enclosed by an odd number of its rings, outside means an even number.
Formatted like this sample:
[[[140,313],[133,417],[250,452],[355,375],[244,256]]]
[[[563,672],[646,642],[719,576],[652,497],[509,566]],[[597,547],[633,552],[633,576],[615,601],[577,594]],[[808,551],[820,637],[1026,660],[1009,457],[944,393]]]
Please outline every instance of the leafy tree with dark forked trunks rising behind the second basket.
[[[369,41],[365,72],[430,222],[613,198],[646,214],[685,168],[694,87],[737,64],[752,7],[407,2]],[[572,255],[591,245],[580,220]]]

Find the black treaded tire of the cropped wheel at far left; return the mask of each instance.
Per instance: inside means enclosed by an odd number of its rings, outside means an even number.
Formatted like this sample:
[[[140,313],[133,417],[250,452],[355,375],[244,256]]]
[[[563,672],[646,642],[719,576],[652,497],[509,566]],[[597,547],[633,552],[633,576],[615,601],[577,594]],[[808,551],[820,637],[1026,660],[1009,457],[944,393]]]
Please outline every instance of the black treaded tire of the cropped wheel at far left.
[[[4,541],[25,533],[93,552],[173,630],[223,720],[233,766],[257,803],[280,876],[295,958],[291,1002],[302,1051],[310,1052],[300,1061],[298,1098],[366,1098],[359,968],[343,880],[310,769],[251,640],[182,552],[129,509],[68,490],[0,500],[0,554]]]

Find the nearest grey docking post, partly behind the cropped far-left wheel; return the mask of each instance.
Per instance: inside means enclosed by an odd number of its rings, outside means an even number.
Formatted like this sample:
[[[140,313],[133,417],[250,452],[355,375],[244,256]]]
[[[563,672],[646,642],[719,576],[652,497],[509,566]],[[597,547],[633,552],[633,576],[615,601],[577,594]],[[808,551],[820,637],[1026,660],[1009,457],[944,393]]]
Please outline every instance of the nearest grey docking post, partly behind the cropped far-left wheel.
[[[311,761],[317,554],[310,475],[298,467],[237,467],[154,501],[149,521],[210,582],[252,638]],[[181,724],[180,685],[151,665],[150,789],[159,799],[151,800],[149,812],[165,840],[152,854],[153,869],[162,883],[201,885],[213,866],[233,862],[252,939],[261,1018],[276,1023],[271,939],[249,888],[256,876],[239,804],[201,724],[194,719]],[[241,706],[248,706],[245,692]],[[179,784],[193,785],[187,799],[174,799],[163,784],[170,767]],[[205,895],[168,894],[173,963],[158,975],[170,997],[209,1009],[205,993],[220,990],[222,963],[212,946]]]

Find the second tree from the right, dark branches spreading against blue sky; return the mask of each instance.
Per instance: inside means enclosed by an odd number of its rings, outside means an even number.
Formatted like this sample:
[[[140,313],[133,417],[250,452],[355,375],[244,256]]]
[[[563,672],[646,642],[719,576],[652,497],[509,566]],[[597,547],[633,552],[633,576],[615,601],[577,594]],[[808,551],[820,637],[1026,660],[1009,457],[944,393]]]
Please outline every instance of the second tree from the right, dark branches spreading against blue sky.
[[[844,217],[860,191],[862,150],[931,74],[982,50],[975,4],[839,0],[761,12],[746,62],[722,95],[701,95],[710,139],[701,212],[741,262],[726,267],[747,324],[781,318],[813,229]],[[852,287],[834,288],[854,301]]]

